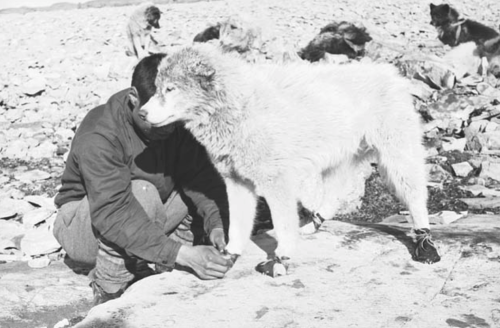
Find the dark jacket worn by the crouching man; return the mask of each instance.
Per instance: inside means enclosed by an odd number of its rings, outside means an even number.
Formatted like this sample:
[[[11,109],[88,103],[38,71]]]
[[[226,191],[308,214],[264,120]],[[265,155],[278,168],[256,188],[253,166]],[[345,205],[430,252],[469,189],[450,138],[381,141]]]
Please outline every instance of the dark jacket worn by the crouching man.
[[[100,235],[145,260],[173,267],[180,244],[167,237],[132,194],[131,181],[156,186],[163,202],[176,188],[191,200],[210,233],[227,219],[227,195],[204,148],[178,126],[166,140],[148,142],[134,129],[130,94],[113,95],[91,110],[76,131],[56,206],[88,196]]]

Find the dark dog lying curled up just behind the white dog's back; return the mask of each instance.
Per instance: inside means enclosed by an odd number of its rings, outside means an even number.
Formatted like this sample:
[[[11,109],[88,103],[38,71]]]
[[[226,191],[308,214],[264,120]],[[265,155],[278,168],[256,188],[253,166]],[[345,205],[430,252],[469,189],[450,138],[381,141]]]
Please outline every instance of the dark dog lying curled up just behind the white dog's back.
[[[343,54],[355,59],[364,56],[365,44],[371,40],[364,27],[357,27],[346,21],[333,22],[324,26],[298,55],[310,62],[321,60],[325,53]]]

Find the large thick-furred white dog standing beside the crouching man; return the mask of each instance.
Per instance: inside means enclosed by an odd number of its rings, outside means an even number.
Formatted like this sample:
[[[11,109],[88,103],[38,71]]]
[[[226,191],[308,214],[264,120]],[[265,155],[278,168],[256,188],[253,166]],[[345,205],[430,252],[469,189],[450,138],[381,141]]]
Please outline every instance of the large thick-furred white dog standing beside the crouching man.
[[[249,241],[257,196],[271,209],[277,256],[291,256],[297,202],[335,214],[335,174],[370,156],[429,228],[419,116],[407,81],[385,64],[254,66],[199,45],[164,59],[157,94],[144,107],[157,126],[184,121],[227,183],[227,250]]]

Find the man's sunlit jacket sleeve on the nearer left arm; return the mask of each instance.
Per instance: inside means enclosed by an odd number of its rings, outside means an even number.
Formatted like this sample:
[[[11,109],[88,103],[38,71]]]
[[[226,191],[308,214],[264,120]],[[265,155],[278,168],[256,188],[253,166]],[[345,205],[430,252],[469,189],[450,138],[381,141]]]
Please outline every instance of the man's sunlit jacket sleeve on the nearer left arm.
[[[180,243],[158,229],[134,197],[122,145],[96,134],[82,139],[78,162],[92,225],[104,239],[127,252],[173,268]]]

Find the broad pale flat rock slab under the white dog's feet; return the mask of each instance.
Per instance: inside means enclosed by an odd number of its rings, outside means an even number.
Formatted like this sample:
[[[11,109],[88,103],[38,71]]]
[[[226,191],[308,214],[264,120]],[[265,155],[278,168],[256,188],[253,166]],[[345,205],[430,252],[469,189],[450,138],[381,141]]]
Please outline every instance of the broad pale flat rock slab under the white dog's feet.
[[[411,259],[407,227],[325,222],[278,278],[255,270],[276,247],[261,234],[224,279],[151,276],[75,327],[500,327],[500,219],[490,219],[436,226],[433,265]]]

